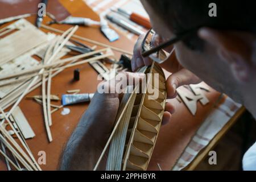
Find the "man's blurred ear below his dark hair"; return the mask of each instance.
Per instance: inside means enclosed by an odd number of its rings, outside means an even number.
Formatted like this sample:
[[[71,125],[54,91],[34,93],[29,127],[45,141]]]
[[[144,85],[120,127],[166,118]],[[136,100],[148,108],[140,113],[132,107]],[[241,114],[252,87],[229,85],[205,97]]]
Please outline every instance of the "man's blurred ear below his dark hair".
[[[218,31],[212,28],[201,28],[199,36],[205,42],[216,47],[220,59],[230,65],[235,78],[240,82],[248,82],[255,62],[254,42],[249,33],[238,31]]]

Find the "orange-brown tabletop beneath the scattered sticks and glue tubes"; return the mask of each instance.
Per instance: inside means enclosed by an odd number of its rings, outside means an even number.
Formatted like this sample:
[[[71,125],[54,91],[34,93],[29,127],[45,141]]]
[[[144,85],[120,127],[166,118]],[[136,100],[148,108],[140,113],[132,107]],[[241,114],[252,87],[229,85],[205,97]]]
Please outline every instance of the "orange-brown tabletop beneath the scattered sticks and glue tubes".
[[[74,0],[74,1],[59,0],[59,1],[73,16],[84,16],[84,17],[90,17],[94,20],[99,20],[98,15],[94,13],[88,6],[86,6],[84,2],[82,2],[81,0]],[[30,22],[35,22],[35,16],[27,18],[27,20],[29,20]],[[48,20],[49,20],[48,18],[45,18],[44,23],[47,22]],[[7,24],[5,24],[5,26],[6,25]],[[60,30],[67,30],[71,26],[55,24],[52,27],[59,28]],[[46,31],[44,29],[42,30]],[[109,43],[108,40],[101,34],[98,28],[80,27],[79,30],[76,32],[76,35],[97,40],[98,42],[111,44],[112,46],[126,49],[127,51],[131,51],[131,52],[133,51],[134,42],[131,42],[122,34],[120,34],[121,38],[114,43]],[[83,43],[88,44],[89,46],[94,46],[86,42],[83,42]],[[120,53],[115,52],[115,55],[117,56],[117,58],[119,58]],[[76,82],[72,81],[73,70],[75,68],[79,68],[80,74],[81,74],[80,81],[76,81]],[[57,94],[61,96],[61,94],[66,93],[67,90],[72,90],[72,89],[80,89],[81,93],[94,93],[96,91],[98,81],[97,81],[97,73],[94,71],[94,69],[90,67],[90,65],[88,64],[83,64],[75,68],[65,69],[65,71],[61,72],[58,76],[53,78],[52,92],[51,92],[52,94]],[[41,94],[41,88],[39,87],[38,89],[34,90],[28,95],[34,96],[34,95],[40,95],[40,94]],[[209,97],[212,98],[212,100],[214,100],[218,97],[218,95],[219,93],[213,91],[213,93],[209,94]],[[32,129],[36,134],[35,138],[27,140],[28,146],[30,146],[30,149],[34,154],[35,159],[39,158],[38,156],[39,151],[45,151],[46,165],[41,165],[42,169],[56,170],[59,163],[61,152],[63,151],[63,148],[65,146],[65,143],[67,142],[72,131],[75,129],[77,123],[79,122],[79,119],[81,118],[81,115],[84,113],[84,111],[88,107],[88,104],[68,106],[68,108],[71,109],[71,113],[68,115],[61,115],[60,114],[61,110],[52,114],[53,125],[51,126],[51,131],[52,131],[53,142],[51,143],[48,143],[48,140],[47,140],[46,129],[44,127],[42,106],[39,104],[36,104],[36,102],[32,100],[23,100],[19,106],[22,109],[24,115],[26,116],[28,122],[30,123]],[[178,131],[176,132],[175,129],[178,128],[179,125],[180,126],[186,125],[186,128],[188,131],[190,131],[190,133],[193,133],[194,131],[196,131],[198,126],[200,126],[200,123],[203,122],[204,117],[206,116],[205,112],[209,110],[209,108],[210,106],[199,107],[200,112],[198,116],[195,118],[195,117],[191,117],[191,114],[189,115],[189,112],[185,111],[187,110],[185,106],[180,106],[178,114],[175,115],[174,120],[172,121],[173,123],[175,123],[175,127],[172,127],[174,128],[173,129],[174,135],[178,133]],[[236,117],[238,117],[240,114],[241,113],[236,115]],[[180,119],[185,117],[187,118]],[[197,121],[195,125],[191,125],[193,127],[191,127],[190,125],[187,125],[187,122],[189,121],[189,119],[193,121]],[[236,121],[236,119],[234,119],[232,123],[230,123],[230,125],[233,124],[234,121]],[[168,133],[167,134],[164,133],[162,137],[160,136],[158,143],[166,142],[165,140],[168,140],[168,138],[166,138],[166,135],[168,135]],[[180,142],[182,143],[185,140],[188,140],[188,137],[185,138],[184,140],[180,140]],[[216,140],[214,140],[214,144],[215,143],[216,143]],[[179,141],[176,144],[179,144]],[[179,146],[180,146],[179,150],[181,150],[182,145],[179,144]],[[155,150],[156,150],[155,156],[157,156],[159,151],[163,151],[160,144],[156,145]],[[209,150],[209,148],[207,148],[205,152],[207,152],[207,150]],[[176,148],[169,148],[168,151],[165,151],[165,152],[170,152],[175,154],[175,151],[176,151]],[[175,154],[173,158],[176,156],[177,155]],[[174,162],[171,162],[171,163],[174,163]],[[158,169],[156,168],[154,161],[152,162],[150,169]],[[170,169],[170,166],[167,165],[163,169]],[[6,170],[5,160],[3,160],[2,157],[0,160],[0,170]]]

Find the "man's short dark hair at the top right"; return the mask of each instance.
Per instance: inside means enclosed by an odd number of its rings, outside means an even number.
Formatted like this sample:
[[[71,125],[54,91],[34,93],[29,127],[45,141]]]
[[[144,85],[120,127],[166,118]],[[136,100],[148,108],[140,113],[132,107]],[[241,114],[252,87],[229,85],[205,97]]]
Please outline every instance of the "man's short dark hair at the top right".
[[[201,26],[256,33],[255,0],[147,0],[147,3],[176,35]],[[217,5],[216,17],[209,16],[210,3]],[[196,32],[183,42],[191,49],[203,49],[203,40]]]

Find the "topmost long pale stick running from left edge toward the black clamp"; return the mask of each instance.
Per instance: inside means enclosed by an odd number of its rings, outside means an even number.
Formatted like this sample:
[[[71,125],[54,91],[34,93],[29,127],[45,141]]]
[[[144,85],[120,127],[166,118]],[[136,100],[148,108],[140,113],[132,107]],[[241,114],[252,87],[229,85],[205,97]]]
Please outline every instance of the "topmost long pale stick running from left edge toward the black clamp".
[[[88,57],[88,56],[92,56],[92,55],[95,55],[96,53],[100,53],[100,52],[103,52],[103,51],[109,51],[110,49],[107,49],[107,48],[104,48],[104,49],[100,49],[98,51],[93,51],[93,52],[88,52],[88,53],[84,53],[82,55],[77,55],[77,56],[73,56],[73,57],[68,57],[66,59],[63,59],[63,60],[60,60],[60,61],[56,61],[55,63],[52,63],[52,64],[47,64],[47,65],[39,65],[38,67],[34,67],[32,69],[27,69],[26,71],[22,71],[22,72],[19,72],[19,73],[14,73],[14,74],[11,74],[11,75],[7,75],[7,76],[3,76],[3,77],[0,77],[0,80],[5,80],[7,78],[13,78],[13,77],[18,77],[20,75],[26,75],[28,73],[31,73],[31,72],[36,72],[36,71],[39,71],[40,69],[42,68],[51,68],[53,66],[56,66],[58,64],[64,64],[64,63],[68,63],[69,61],[72,61],[72,60],[76,60],[76,59],[81,59],[81,58],[84,58],[84,57]],[[101,55],[103,58],[105,58],[104,55]],[[100,56],[96,56],[97,59],[103,59],[101,58]],[[100,57],[100,58],[99,58]],[[94,57],[92,57],[93,59]],[[94,60],[94,59],[93,59]],[[90,60],[91,61],[91,60]],[[41,73],[42,75],[43,73]]]

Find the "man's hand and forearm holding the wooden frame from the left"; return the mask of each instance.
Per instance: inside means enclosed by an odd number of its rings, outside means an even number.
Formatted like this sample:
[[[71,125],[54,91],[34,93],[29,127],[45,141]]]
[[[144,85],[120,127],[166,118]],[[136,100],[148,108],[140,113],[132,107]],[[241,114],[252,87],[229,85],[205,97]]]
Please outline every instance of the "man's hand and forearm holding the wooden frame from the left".
[[[125,74],[128,78],[144,78],[143,73],[119,73]],[[117,76],[114,81],[106,81],[101,85],[107,90],[114,89],[115,85],[120,82]],[[126,80],[127,81],[127,80]],[[114,85],[112,85],[114,83]],[[127,81],[127,84],[129,82]],[[61,170],[92,170],[101,155],[106,142],[112,133],[115,117],[119,107],[119,97],[117,93],[98,93],[94,97],[82,116],[79,125],[73,132],[67,146],[63,152],[60,163]],[[171,114],[174,113],[174,106],[166,104],[163,122],[170,121]],[[102,159],[99,170],[105,170],[106,159]]]

